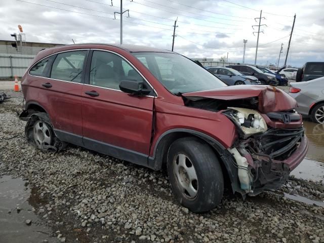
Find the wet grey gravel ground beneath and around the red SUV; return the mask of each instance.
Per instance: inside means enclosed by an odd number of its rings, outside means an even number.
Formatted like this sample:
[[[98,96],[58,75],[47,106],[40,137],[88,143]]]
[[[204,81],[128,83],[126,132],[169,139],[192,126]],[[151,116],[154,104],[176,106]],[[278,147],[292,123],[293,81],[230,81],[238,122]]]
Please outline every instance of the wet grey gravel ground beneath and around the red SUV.
[[[324,242],[323,182],[291,178],[244,201],[226,191],[221,205],[193,214],[174,199],[166,172],[69,146],[43,153],[27,144],[18,119],[21,93],[0,104],[0,176],[28,180],[35,214],[58,242]],[[1,236],[0,236],[1,237]]]

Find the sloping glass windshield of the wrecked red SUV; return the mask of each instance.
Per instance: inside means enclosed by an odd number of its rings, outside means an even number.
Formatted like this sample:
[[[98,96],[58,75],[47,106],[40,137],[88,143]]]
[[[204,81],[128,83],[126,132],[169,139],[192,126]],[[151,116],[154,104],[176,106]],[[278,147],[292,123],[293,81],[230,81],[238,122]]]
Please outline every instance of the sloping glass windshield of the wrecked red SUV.
[[[205,68],[179,54],[160,52],[132,54],[173,94],[227,86]]]

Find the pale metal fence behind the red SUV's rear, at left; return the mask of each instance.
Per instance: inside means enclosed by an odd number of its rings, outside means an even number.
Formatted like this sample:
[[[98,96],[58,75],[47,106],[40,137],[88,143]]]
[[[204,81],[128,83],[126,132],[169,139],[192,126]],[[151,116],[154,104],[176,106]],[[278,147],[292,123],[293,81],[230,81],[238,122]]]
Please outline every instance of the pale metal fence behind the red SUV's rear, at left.
[[[0,54],[0,78],[21,77],[34,55]]]

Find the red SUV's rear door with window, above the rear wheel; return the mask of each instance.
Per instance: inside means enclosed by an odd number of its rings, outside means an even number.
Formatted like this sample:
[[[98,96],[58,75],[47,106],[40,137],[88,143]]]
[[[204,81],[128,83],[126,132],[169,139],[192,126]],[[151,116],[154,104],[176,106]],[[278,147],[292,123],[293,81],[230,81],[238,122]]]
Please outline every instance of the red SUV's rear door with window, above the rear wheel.
[[[52,55],[52,65],[45,67],[45,77],[32,76],[32,86],[36,88],[32,91],[33,99],[41,102],[49,113],[58,138],[76,145],[82,145],[81,94],[88,52],[75,50]],[[36,73],[37,64],[29,71],[30,75]]]

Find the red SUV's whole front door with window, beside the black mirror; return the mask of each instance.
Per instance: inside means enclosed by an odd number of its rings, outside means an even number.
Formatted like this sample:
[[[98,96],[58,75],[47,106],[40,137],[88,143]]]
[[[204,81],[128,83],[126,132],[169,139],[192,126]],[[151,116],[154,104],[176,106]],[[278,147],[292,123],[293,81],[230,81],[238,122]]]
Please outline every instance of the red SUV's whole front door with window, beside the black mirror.
[[[143,76],[123,57],[94,50],[87,66],[82,92],[84,144],[136,164],[147,165],[153,119],[153,89],[149,96],[119,90],[121,80],[143,82]]]

